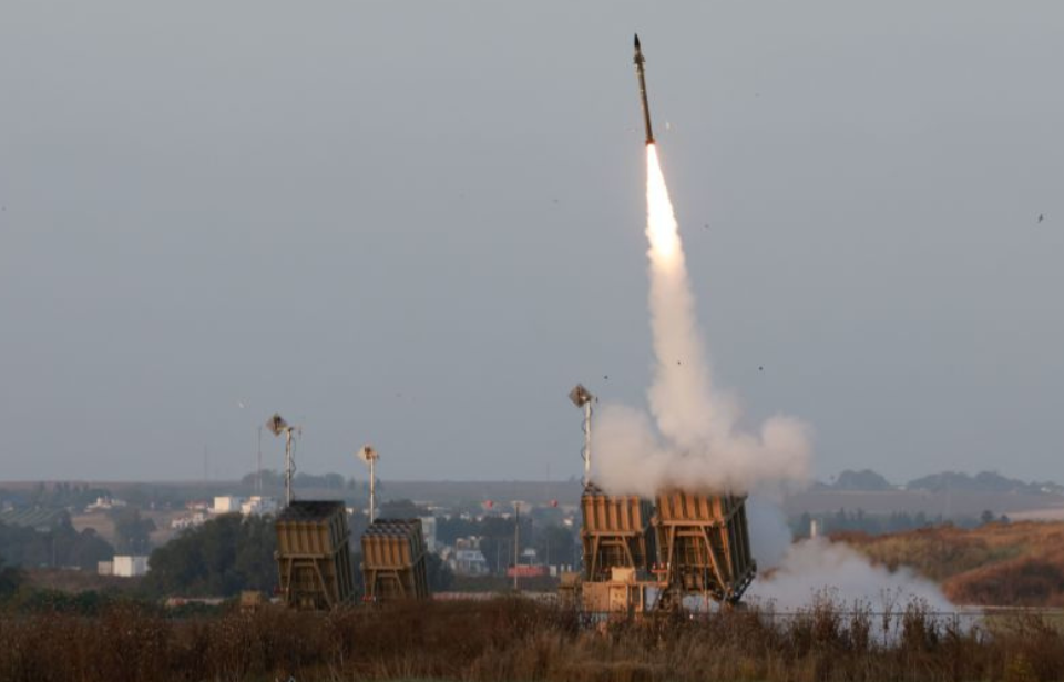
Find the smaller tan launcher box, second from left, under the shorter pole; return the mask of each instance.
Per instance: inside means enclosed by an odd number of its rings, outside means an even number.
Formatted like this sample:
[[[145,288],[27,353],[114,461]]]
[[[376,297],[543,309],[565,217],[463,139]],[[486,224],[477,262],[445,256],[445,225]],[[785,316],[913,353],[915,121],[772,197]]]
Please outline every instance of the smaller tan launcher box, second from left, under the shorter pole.
[[[362,533],[366,600],[428,599],[420,519],[377,519]]]

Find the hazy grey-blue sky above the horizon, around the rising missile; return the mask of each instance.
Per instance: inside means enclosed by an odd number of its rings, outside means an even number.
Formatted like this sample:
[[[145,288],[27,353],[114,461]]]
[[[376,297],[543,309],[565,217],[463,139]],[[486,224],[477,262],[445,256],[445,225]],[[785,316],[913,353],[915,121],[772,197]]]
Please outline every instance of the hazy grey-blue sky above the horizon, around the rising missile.
[[[567,390],[651,375],[634,31],[750,420],[1064,480],[1064,7],[971,0],[7,0],[0,479],[234,477],[275,410],[301,470],[579,475]]]

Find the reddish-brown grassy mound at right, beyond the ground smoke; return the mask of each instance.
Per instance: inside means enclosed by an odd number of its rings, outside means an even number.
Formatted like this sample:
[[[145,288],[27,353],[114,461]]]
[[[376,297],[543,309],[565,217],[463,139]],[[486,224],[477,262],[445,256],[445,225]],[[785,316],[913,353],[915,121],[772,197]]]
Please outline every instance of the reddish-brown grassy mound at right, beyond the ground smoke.
[[[1064,607],[1064,523],[937,527],[870,537],[833,536],[890,568],[910,566],[951,601],[995,607]]]

